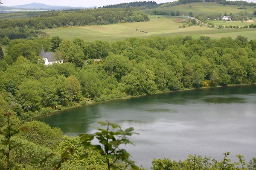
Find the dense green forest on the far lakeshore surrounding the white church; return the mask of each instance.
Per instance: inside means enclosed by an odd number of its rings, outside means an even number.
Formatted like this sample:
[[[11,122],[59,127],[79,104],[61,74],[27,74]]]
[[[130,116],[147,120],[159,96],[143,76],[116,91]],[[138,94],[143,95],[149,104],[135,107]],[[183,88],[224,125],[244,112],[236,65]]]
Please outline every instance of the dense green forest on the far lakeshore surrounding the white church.
[[[64,63],[45,66],[38,60],[41,48]],[[256,40],[242,36],[11,40],[6,53],[0,92],[20,119],[87,100],[256,82]]]

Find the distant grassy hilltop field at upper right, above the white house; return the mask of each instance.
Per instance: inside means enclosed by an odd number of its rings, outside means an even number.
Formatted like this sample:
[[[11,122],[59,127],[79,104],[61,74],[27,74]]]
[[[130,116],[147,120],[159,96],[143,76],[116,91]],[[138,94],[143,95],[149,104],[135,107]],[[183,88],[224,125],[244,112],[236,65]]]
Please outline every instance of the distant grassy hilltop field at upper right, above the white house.
[[[189,8],[191,6],[191,8]],[[155,9],[147,9],[144,10],[145,13],[151,14],[152,11],[164,11],[164,12],[176,12],[179,11],[180,15],[187,16],[189,11],[191,11],[194,15],[198,14],[222,14],[224,15],[225,12],[229,15],[230,13],[239,15],[241,11],[247,11],[247,15],[253,16],[253,9],[252,6],[247,6],[247,9],[238,9],[238,6],[230,6],[226,5],[223,6],[222,4],[218,3],[189,3],[189,4],[182,4],[178,6],[169,6],[169,7],[158,7]]]

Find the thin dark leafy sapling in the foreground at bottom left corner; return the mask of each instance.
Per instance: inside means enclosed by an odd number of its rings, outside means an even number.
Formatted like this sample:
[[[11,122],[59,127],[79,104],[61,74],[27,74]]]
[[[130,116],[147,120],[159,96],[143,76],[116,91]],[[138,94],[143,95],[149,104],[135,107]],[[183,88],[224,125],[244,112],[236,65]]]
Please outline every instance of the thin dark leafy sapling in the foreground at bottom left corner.
[[[17,164],[15,164],[10,160],[11,150],[14,148],[17,148],[19,152],[22,153],[21,144],[17,143],[15,140],[11,140],[11,137],[20,133],[20,131],[28,130],[27,127],[21,127],[20,129],[15,129],[14,124],[12,124],[11,115],[12,113],[6,113],[4,116],[6,116],[7,119],[1,116],[2,121],[7,123],[7,127],[0,129],[0,135],[4,136],[4,138],[1,140],[1,144],[7,147],[7,149],[2,148],[0,152],[2,152],[3,155],[5,155],[7,158],[7,170],[19,169]]]

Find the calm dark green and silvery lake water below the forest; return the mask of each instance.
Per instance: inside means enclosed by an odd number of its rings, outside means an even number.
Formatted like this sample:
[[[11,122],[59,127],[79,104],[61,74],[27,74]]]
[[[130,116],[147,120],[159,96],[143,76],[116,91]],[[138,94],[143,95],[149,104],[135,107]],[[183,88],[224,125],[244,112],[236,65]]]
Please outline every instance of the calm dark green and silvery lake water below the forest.
[[[185,159],[188,154],[235,161],[256,157],[256,85],[204,88],[119,99],[38,118],[68,136],[94,133],[97,121],[134,127],[136,146],[124,146],[147,169],[154,158]]]

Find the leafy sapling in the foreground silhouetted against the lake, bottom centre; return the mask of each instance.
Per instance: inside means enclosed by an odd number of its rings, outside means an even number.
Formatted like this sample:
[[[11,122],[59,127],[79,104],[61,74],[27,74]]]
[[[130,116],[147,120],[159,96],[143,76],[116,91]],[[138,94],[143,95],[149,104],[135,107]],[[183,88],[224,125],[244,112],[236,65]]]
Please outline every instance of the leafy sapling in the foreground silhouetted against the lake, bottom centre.
[[[107,126],[107,128],[102,129],[96,127],[98,131],[94,134],[79,135],[84,148],[92,147],[94,150],[98,151],[99,154],[104,156],[108,164],[108,170],[110,170],[110,168],[116,169],[115,163],[117,163],[117,161],[126,163],[124,169],[130,166],[134,170],[139,170],[139,167],[134,164],[135,162],[130,159],[130,154],[125,149],[119,148],[121,144],[133,144],[127,136],[138,134],[132,132],[134,128],[129,127],[128,129],[122,130],[119,125],[110,123],[109,121],[99,122],[99,124],[101,124],[101,126]],[[100,144],[94,145],[91,143],[94,137],[98,139]]]

